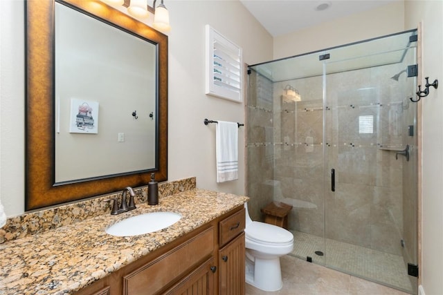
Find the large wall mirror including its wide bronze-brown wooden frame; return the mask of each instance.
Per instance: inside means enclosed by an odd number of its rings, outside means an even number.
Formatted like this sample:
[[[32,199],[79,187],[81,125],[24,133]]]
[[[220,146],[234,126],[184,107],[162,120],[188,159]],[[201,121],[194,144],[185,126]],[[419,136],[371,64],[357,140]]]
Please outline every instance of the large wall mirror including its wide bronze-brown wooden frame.
[[[101,1],[27,1],[26,210],[167,180],[168,37]]]

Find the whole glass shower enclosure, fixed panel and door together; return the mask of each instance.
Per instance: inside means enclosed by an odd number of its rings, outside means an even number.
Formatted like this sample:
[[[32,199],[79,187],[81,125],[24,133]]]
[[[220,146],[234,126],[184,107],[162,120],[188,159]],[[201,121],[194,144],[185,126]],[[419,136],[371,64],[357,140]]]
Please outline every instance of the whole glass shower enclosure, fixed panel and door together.
[[[410,30],[249,66],[246,124],[251,216],[291,204],[292,255],[411,294],[416,50]]]

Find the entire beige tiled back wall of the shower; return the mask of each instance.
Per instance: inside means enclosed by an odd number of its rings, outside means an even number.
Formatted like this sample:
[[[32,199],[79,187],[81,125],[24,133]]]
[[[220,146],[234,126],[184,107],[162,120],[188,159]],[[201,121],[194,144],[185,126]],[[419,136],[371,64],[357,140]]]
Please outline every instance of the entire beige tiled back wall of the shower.
[[[274,200],[293,204],[290,229],[401,255],[403,161],[392,149],[405,146],[408,102],[390,77],[402,68],[327,75],[325,106],[322,77],[274,84]],[[302,102],[283,102],[287,84]],[[364,131],[362,118],[372,129]]]

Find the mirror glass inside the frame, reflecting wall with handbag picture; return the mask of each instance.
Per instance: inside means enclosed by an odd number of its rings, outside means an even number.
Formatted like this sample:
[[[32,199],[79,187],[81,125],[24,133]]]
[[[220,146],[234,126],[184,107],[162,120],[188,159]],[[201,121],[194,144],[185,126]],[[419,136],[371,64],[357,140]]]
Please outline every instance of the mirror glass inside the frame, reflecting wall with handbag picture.
[[[156,46],[55,3],[55,182],[156,169]]]

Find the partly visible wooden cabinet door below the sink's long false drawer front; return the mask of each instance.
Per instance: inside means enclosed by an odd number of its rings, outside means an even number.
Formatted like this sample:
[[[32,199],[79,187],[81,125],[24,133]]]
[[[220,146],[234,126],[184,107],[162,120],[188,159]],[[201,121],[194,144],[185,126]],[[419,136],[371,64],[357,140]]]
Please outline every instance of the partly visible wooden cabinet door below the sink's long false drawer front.
[[[206,260],[205,263],[197,267],[188,276],[183,278],[177,285],[174,285],[165,294],[177,295],[212,295],[215,294],[214,276],[216,268],[214,258]]]

